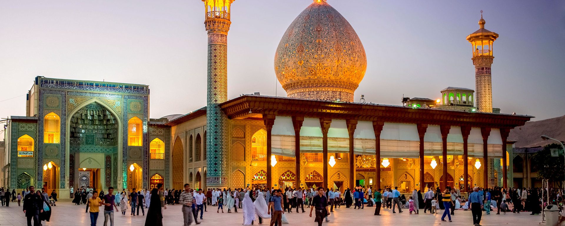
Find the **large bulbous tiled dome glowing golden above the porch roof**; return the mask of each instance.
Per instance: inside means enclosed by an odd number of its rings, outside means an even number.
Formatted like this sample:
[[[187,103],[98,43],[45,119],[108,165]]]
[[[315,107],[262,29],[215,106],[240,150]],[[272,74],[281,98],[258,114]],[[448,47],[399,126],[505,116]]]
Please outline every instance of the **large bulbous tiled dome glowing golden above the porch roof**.
[[[319,0],[294,19],[275,54],[275,73],[288,97],[352,102],[366,69],[353,27]]]

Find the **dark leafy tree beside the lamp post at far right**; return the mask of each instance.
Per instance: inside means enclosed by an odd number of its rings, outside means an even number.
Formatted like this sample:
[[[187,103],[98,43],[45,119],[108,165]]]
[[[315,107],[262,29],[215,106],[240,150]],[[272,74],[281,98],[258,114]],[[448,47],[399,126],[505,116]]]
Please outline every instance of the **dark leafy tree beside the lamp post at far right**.
[[[538,179],[546,179],[554,187],[561,187],[565,176],[563,157],[551,157],[550,149],[562,149],[559,144],[549,144],[532,157],[532,167],[537,168]]]

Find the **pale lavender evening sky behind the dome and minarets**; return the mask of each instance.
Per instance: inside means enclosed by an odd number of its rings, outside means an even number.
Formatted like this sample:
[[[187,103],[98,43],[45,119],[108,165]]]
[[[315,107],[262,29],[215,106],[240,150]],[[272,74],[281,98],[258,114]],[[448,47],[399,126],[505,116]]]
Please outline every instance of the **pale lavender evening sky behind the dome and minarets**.
[[[228,37],[228,98],[286,96],[273,70],[282,34],[311,0],[237,0]],[[565,114],[564,1],[329,0],[367,53],[355,99],[400,105],[475,89],[466,36],[497,32],[493,106],[534,120]],[[206,31],[199,0],[0,2],[0,118],[25,115],[34,77],[150,85],[150,117],[206,105]],[[13,99],[10,99],[13,98]],[[6,100],[8,99],[8,100]],[[5,101],[6,100],[6,101]]]

